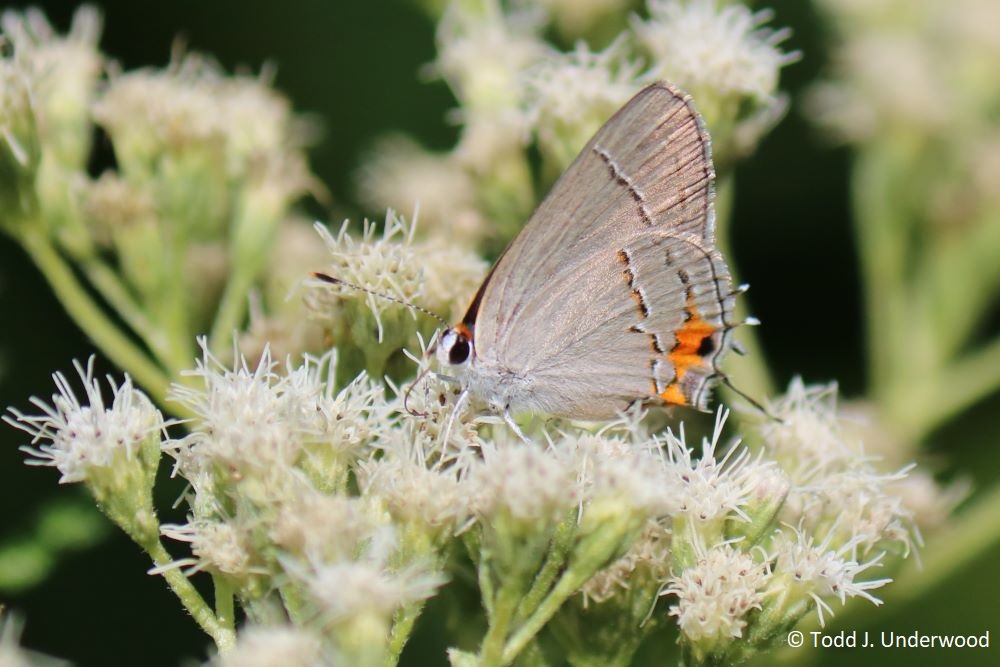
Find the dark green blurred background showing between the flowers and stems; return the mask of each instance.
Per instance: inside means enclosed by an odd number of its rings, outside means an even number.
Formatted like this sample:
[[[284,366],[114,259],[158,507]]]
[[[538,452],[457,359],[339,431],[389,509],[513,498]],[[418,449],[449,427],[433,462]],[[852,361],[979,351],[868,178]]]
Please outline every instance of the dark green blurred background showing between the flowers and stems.
[[[837,380],[850,397],[865,386],[847,185],[851,156],[824,140],[798,104],[804,86],[824,71],[830,36],[809,3],[768,4],[775,10],[774,25],[794,31],[786,50],[798,49],[803,58],[782,75],[782,88],[792,95],[791,112],[738,169],[732,259],[739,279],[752,285],[748,302],[763,321],[759,333],[776,377],[781,382],[796,374],[809,382]],[[76,7],[36,5],[59,30],[68,27]],[[5,8],[21,6],[27,5]],[[311,157],[334,204],[310,213],[325,221],[365,214],[381,218],[383,212],[358,209],[351,181],[359,156],[380,134],[399,131],[441,149],[457,137],[445,121],[454,103],[450,92],[418,74],[434,56],[433,24],[405,0],[108,0],[99,6],[105,15],[102,50],[126,69],[166,64],[175,40],[213,54],[230,70],[277,65],[277,87],[324,128]],[[65,371],[73,359],[93,352],[6,237],[0,237],[0,313],[0,406],[25,408],[31,395],[47,398],[50,373]],[[997,324],[1000,313],[992,322]],[[106,364],[99,367],[115,372]],[[976,487],[1000,477],[998,411],[1000,398],[993,397],[932,437],[943,476],[968,477]],[[203,659],[209,641],[184,617],[161,580],[145,574],[148,560],[123,535],[102,530],[103,519],[96,510],[86,511],[86,502],[74,502],[83,498],[82,488],[59,487],[52,470],[26,468],[17,451],[22,435],[0,427],[0,543],[8,559],[35,565],[56,559],[41,583],[20,589],[5,581],[4,567],[13,561],[0,559],[0,602],[25,617],[24,644],[80,665],[178,665]],[[159,506],[169,507],[179,492],[165,482]],[[38,517],[52,503],[68,508],[55,515],[62,523],[40,527]],[[62,551],[60,536],[73,530],[92,535],[94,545]],[[33,538],[40,531],[45,534]],[[39,543],[49,550],[15,548]],[[996,635],[991,640],[1000,644],[998,574],[1000,548],[994,546],[918,603],[894,605],[890,589],[887,606],[865,616],[870,624],[844,619],[842,628],[835,620],[830,630],[977,635],[991,630]],[[422,623],[404,664],[446,664],[433,614]],[[798,659],[822,665],[915,667],[945,660],[996,665],[1000,650],[814,649]]]

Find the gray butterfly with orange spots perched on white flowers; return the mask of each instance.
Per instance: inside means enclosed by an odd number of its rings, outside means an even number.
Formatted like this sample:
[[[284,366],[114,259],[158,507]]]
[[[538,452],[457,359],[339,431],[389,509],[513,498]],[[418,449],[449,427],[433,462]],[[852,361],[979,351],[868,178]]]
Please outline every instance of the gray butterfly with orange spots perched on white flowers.
[[[690,98],[640,91],[583,148],[435,354],[504,416],[705,409],[735,297],[715,248],[711,144]],[[318,276],[330,282],[341,282]],[[750,323],[750,321],[746,321]],[[728,383],[728,382],[727,382]],[[457,409],[456,409],[457,412]]]

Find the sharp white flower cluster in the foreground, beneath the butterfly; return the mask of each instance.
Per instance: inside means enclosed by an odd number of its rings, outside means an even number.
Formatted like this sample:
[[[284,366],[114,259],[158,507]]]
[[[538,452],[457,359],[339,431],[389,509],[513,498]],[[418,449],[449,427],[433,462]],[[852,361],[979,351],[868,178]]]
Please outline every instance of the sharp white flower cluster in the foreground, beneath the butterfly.
[[[586,613],[588,601],[640,596],[649,606],[633,608],[637,632],[641,616],[669,613],[705,658],[726,655],[750,624],[783,627],[810,609],[822,621],[848,597],[878,604],[870,591],[889,579],[867,571],[887,545],[913,539],[910,513],[885,488],[905,471],[875,475],[870,460],[838,454],[850,448],[829,388],[793,383],[756,456],[722,446],[722,414],[697,452],[683,434],[650,436],[641,415],[597,434],[564,424],[536,445],[483,438],[488,424],[463,412],[442,443],[454,393],[414,388],[409,410],[438,407],[414,416],[364,375],[337,389],[332,364],[282,369],[265,354],[230,368],[206,351],[175,389],[193,415],[179,438],[162,438],[159,413],[127,382],[105,405],[82,368],[86,403],[60,375],[54,407],[36,401],[42,416],[6,419],[50,441],[30,450],[34,462],[88,484],[95,469],[127,469],[154,435],[190,484],[188,522],[159,530],[191,548],[154,572],[225,577],[255,625],[284,605],[301,631],[333,641],[324,651],[353,646],[362,630],[369,642],[391,636],[393,618],[445,581],[456,537],[499,587],[481,591],[487,604],[525,601],[509,610],[520,620],[508,644],[573,600]],[[649,611],[658,596],[667,612]]]

